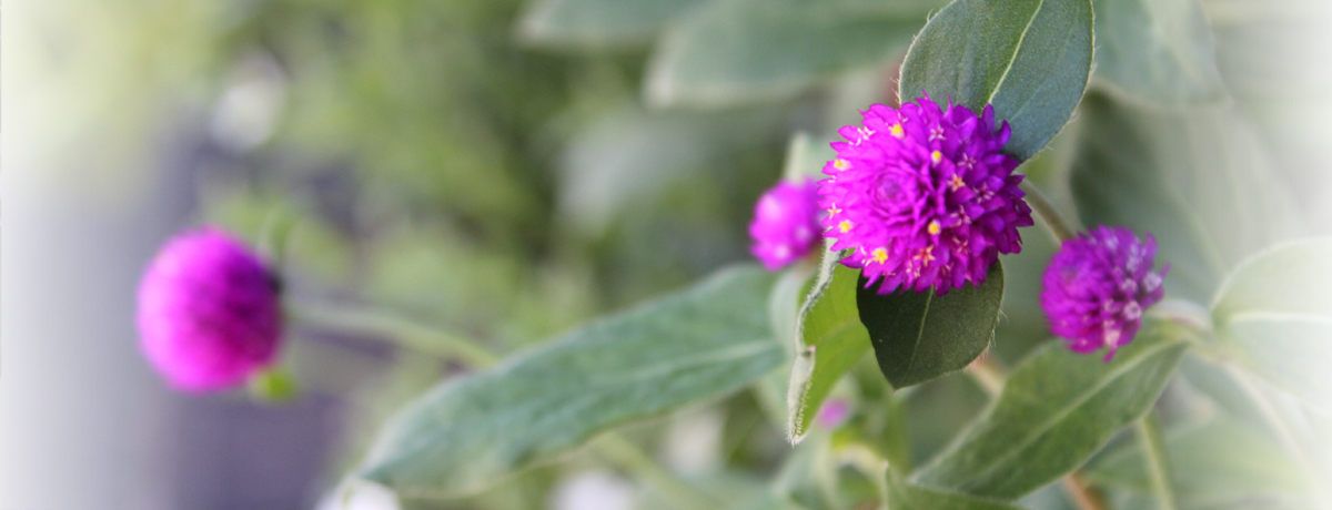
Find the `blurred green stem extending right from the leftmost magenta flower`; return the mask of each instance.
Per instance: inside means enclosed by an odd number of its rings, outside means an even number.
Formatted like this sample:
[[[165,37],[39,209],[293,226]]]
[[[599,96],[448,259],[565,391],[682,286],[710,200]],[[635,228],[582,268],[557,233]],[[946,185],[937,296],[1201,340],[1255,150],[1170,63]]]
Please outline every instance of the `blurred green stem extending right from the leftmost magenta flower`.
[[[306,322],[314,328],[360,333],[370,338],[388,340],[421,353],[444,358],[457,358],[474,368],[489,368],[500,361],[497,356],[461,334],[444,332],[382,312],[289,302],[286,305],[286,314],[290,320]]]

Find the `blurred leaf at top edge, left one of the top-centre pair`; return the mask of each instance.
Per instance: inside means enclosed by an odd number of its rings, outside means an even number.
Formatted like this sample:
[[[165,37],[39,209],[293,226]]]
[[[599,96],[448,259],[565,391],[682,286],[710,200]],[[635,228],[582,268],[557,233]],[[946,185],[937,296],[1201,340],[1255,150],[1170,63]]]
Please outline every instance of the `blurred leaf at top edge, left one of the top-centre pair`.
[[[537,0],[518,20],[518,39],[583,49],[646,43],[703,0]]]

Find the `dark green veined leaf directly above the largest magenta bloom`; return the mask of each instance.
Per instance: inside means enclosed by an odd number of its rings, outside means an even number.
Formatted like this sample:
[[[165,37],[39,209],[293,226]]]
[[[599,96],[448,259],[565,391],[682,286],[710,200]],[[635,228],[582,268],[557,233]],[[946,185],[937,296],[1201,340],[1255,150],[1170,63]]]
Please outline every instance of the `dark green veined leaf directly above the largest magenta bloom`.
[[[976,112],[992,104],[1012,127],[1004,150],[1026,160],[1068,121],[1091,55],[1090,0],[955,0],[911,44],[898,93]]]

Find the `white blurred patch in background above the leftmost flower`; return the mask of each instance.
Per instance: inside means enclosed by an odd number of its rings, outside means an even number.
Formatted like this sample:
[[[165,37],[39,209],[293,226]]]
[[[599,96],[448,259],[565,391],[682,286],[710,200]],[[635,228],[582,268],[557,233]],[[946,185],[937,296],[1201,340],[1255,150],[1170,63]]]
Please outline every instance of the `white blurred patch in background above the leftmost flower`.
[[[209,134],[232,153],[253,150],[273,136],[286,103],[286,75],[269,55],[241,60],[230,87],[213,107]]]

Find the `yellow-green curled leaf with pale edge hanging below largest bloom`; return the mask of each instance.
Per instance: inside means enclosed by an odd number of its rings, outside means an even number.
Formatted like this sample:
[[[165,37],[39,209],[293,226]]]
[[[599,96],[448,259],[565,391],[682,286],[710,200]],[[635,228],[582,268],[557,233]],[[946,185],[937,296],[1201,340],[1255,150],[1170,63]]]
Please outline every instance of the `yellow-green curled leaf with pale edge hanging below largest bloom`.
[[[860,325],[855,285],[860,272],[826,252],[814,292],[801,310],[799,353],[787,391],[787,438],[805,438],[832,386],[870,350],[870,333]]]

